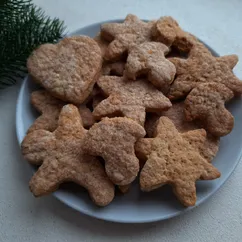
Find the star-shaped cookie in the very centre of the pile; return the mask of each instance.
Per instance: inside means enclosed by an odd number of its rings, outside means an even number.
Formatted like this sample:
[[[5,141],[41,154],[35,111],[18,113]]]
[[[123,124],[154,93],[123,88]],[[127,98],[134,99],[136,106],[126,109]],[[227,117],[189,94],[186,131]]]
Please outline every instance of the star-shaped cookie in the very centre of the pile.
[[[144,125],[146,111],[159,112],[171,107],[170,100],[146,80],[105,76],[97,84],[108,96],[93,110],[94,117],[99,119],[125,116]]]

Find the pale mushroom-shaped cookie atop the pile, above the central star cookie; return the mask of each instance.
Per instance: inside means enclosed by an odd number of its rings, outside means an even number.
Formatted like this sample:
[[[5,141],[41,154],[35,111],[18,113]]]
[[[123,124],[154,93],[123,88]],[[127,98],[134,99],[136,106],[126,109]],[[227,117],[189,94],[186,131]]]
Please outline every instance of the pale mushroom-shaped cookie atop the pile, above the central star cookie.
[[[130,51],[125,65],[125,75],[135,80],[137,76],[147,74],[148,80],[167,92],[172,83],[176,68],[165,58],[169,48],[158,42],[144,42],[134,46]]]

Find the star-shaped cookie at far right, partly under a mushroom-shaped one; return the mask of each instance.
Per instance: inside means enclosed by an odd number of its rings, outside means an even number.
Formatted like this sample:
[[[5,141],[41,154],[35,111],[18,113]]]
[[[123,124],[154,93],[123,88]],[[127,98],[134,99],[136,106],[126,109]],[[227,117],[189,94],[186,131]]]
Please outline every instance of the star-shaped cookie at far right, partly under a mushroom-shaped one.
[[[188,59],[169,58],[176,66],[176,78],[171,85],[169,98],[184,98],[200,83],[221,83],[235,93],[242,93],[242,81],[233,73],[238,62],[236,55],[214,57],[204,48],[194,47]]]

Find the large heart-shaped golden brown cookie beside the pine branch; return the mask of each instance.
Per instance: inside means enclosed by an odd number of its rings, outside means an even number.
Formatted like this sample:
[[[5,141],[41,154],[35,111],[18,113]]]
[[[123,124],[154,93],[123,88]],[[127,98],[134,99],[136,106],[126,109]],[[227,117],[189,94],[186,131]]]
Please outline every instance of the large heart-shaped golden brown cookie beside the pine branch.
[[[27,66],[34,80],[53,96],[81,104],[100,75],[102,55],[93,39],[74,36],[41,45],[29,57]]]

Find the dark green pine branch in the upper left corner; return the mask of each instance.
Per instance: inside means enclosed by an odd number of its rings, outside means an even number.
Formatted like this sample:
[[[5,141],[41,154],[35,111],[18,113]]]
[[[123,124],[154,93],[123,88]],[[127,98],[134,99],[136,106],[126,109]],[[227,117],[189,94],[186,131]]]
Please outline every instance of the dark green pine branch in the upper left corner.
[[[0,89],[26,74],[26,60],[43,43],[63,37],[64,24],[31,0],[0,0]]]

